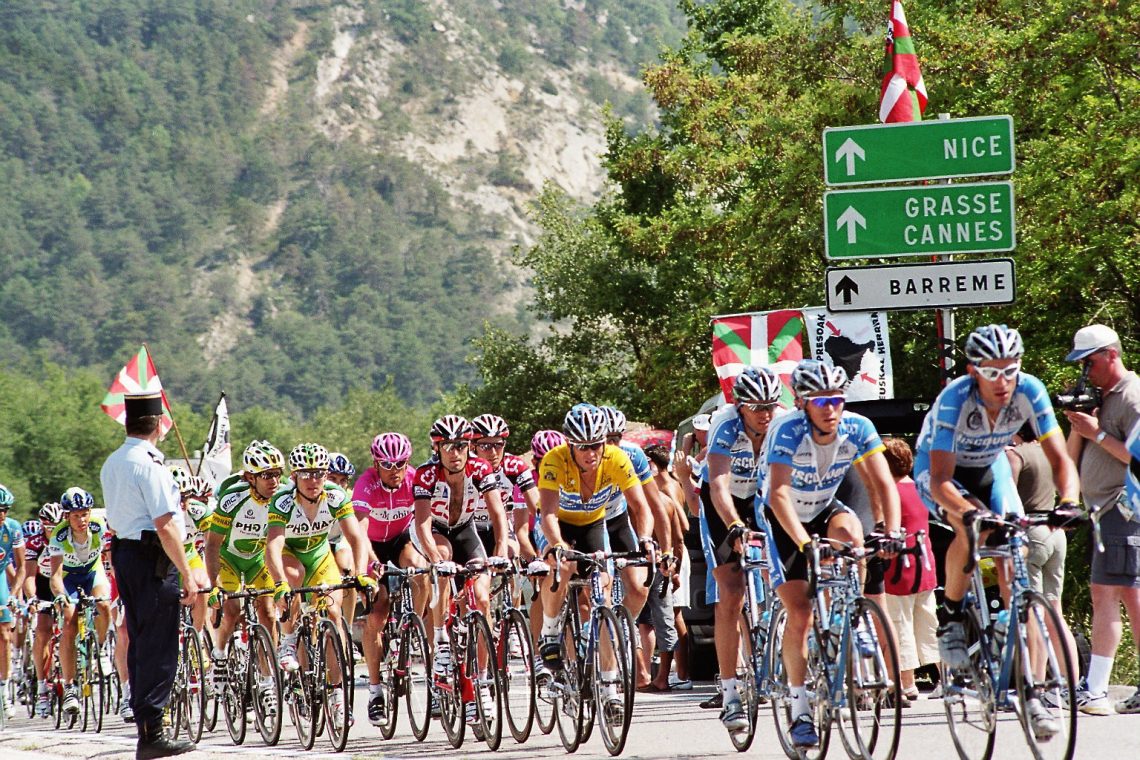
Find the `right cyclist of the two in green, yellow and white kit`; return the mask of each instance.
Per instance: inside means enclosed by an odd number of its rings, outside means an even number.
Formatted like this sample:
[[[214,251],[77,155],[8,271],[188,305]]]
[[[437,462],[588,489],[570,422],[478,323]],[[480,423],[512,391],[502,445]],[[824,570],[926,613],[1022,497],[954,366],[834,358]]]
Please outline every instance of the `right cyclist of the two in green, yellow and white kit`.
[[[357,577],[361,586],[376,587],[368,572],[368,542],[348,492],[328,482],[328,450],[318,443],[301,443],[288,455],[293,487],[277,492],[269,504],[269,534],[266,544],[266,566],[274,579],[274,599],[284,606],[292,586],[336,585],[341,573],[328,546],[328,531],[341,523],[344,538],[352,547]],[[328,597],[328,618],[340,628],[341,593]],[[282,626],[278,660],[285,670],[296,670],[296,632],[300,599],[294,599],[294,614]],[[335,663],[329,662],[329,679],[340,679]],[[339,683],[339,681],[337,681]],[[344,695],[333,692],[333,710],[343,711]]]

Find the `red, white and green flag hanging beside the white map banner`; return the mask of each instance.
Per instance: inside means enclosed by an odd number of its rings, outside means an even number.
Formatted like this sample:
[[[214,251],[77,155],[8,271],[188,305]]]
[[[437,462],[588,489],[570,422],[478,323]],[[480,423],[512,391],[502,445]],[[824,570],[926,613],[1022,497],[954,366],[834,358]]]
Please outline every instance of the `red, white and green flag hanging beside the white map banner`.
[[[783,402],[791,408],[791,370],[804,358],[803,332],[798,309],[714,317],[712,366],[725,400],[732,403],[732,383],[746,366],[771,367],[783,381]]]

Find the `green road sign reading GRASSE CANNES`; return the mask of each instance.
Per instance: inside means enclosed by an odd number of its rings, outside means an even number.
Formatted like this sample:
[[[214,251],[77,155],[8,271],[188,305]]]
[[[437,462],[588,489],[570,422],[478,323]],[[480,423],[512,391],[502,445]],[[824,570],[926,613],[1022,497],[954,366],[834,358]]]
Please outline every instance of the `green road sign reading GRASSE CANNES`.
[[[823,194],[828,259],[1012,251],[1012,182]]]

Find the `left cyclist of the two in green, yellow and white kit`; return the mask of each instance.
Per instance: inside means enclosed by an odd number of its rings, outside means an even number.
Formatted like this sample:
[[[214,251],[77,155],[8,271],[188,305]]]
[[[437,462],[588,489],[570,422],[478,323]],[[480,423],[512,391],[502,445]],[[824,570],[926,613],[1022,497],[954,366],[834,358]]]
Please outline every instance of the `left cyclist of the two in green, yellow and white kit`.
[[[206,573],[213,580],[210,606],[218,606],[221,591],[237,591],[243,582],[255,589],[272,589],[274,579],[266,569],[266,534],[269,529],[269,501],[280,487],[285,457],[269,441],[252,441],[242,453],[242,471],[218,487],[218,506],[206,533]],[[268,596],[254,604],[258,621],[277,637],[276,615]],[[237,599],[222,605],[221,623],[210,653],[213,660],[214,689],[227,678],[226,645],[234,636],[242,606]]]

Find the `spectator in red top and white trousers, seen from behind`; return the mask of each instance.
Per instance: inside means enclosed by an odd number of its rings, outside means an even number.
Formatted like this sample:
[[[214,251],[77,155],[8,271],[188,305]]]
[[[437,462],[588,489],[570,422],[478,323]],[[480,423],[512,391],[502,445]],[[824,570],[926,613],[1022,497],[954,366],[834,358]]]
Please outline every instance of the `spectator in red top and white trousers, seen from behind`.
[[[887,615],[895,627],[898,641],[898,680],[906,698],[903,702],[905,708],[919,696],[914,669],[939,660],[938,639],[935,637],[938,616],[934,598],[937,575],[929,537],[930,512],[919,498],[910,475],[914,467],[914,452],[901,438],[888,438],[882,443],[887,447],[883,456],[887,458],[890,476],[895,479],[895,487],[898,489],[906,546],[913,547],[921,532],[925,547],[920,556],[909,554],[890,559],[883,579]]]

